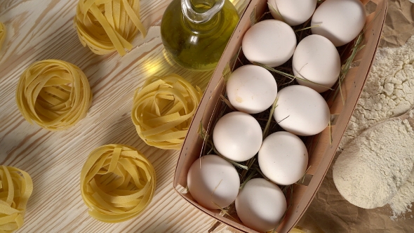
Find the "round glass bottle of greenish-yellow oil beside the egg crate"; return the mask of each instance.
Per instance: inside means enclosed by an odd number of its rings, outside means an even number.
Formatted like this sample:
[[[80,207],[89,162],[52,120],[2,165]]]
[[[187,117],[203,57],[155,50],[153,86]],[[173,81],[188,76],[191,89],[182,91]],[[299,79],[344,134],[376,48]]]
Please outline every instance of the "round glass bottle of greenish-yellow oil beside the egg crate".
[[[161,20],[161,39],[178,65],[214,69],[237,22],[229,0],[173,0]]]

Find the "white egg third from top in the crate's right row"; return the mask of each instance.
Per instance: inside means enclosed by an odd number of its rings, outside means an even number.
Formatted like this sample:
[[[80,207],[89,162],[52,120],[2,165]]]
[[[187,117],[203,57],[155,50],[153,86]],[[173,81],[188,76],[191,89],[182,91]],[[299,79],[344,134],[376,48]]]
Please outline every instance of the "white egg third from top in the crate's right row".
[[[330,120],[329,107],[322,96],[307,86],[286,86],[277,93],[274,119],[295,135],[321,133]]]

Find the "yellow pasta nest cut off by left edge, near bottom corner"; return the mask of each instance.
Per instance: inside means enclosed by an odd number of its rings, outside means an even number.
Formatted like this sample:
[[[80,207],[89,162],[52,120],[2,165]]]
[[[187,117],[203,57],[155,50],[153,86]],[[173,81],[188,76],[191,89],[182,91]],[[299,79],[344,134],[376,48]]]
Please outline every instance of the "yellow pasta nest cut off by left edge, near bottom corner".
[[[33,182],[25,171],[0,166],[0,232],[14,232],[23,225]]]

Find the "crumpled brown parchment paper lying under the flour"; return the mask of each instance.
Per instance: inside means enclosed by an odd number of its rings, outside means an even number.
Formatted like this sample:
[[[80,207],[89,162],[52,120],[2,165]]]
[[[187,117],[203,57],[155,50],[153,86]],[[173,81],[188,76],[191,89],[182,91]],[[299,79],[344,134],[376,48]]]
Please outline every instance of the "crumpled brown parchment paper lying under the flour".
[[[382,31],[380,47],[398,47],[406,44],[414,34],[414,4],[408,0],[389,0],[387,18]],[[340,152],[337,152],[337,156]],[[387,204],[371,210],[356,207],[346,201],[332,178],[332,165],[316,197],[298,222],[298,226],[314,232],[414,232],[412,212],[391,220],[392,210]]]

